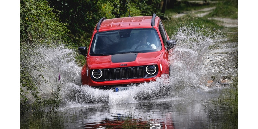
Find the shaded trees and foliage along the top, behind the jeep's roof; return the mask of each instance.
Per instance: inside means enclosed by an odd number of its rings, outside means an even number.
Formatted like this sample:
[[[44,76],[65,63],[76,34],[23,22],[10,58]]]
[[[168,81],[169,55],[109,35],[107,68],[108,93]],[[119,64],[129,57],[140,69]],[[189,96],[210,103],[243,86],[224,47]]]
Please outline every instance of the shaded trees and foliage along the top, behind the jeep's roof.
[[[115,18],[160,15],[161,0],[48,0],[50,7],[59,13],[62,23],[67,23],[74,47],[88,46],[92,31],[102,17]]]

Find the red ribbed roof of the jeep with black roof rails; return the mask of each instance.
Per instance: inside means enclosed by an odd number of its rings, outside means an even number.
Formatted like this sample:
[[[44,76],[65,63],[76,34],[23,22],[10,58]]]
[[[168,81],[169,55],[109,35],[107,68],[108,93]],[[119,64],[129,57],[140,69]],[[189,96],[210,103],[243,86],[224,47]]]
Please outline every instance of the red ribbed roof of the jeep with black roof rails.
[[[160,18],[154,13],[153,16],[135,16],[106,19],[101,18],[95,26],[94,31],[108,31],[130,28],[153,28],[157,26]]]

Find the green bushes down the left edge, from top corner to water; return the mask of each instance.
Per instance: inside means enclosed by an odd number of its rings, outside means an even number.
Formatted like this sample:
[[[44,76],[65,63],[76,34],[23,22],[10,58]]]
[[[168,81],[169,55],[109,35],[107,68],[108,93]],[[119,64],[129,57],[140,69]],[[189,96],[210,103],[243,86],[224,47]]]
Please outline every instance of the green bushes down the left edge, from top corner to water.
[[[33,50],[39,44],[54,46],[62,42],[70,43],[67,24],[59,22],[57,13],[53,13],[48,2],[44,0],[20,1],[20,115],[23,117],[28,110],[30,93],[37,102],[41,102],[38,95],[37,78],[32,76],[34,71],[41,71],[40,64],[34,64],[33,58],[40,58]],[[55,42],[56,44],[52,44]],[[38,78],[43,77],[39,76]]]

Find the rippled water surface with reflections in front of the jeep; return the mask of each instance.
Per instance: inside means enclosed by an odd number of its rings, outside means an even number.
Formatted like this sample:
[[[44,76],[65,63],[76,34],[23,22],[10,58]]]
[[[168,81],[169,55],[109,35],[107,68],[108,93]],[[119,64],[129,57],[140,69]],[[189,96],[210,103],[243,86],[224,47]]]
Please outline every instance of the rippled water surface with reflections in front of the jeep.
[[[63,105],[61,120],[42,128],[220,128],[225,109],[213,101],[220,90],[189,90],[195,94],[128,104]]]

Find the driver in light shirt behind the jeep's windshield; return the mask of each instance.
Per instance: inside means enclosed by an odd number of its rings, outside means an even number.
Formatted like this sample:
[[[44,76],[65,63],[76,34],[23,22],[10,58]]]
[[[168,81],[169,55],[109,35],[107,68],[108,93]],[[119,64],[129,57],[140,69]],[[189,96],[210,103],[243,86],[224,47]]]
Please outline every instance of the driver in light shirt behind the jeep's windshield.
[[[147,41],[148,35],[147,35],[146,31],[140,31],[138,34],[140,37],[139,42],[137,44],[134,44],[132,46],[131,50],[137,50],[138,48],[147,48],[147,47],[149,49],[157,49],[155,44],[152,44]],[[146,44],[146,45],[144,45],[144,44]]]

